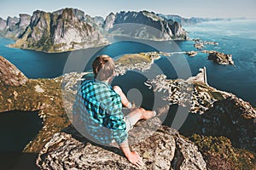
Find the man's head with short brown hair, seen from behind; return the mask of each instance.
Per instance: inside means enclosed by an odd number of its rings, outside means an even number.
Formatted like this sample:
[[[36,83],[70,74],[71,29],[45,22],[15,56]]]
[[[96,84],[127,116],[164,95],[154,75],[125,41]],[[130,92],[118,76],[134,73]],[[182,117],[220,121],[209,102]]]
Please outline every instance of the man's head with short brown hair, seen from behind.
[[[92,70],[97,80],[106,81],[114,74],[114,61],[106,54],[97,56],[92,63]]]

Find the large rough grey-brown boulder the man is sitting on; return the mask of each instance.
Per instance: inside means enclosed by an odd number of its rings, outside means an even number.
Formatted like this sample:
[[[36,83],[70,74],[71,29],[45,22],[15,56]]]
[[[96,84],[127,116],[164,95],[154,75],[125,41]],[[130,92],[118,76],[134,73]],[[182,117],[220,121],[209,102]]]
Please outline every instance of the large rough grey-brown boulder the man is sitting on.
[[[141,169],[207,169],[206,162],[195,144],[181,137],[170,127],[156,132],[151,124],[160,124],[158,118],[138,123],[140,130],[132,129],[130,140],[148,136],[130,144],[131,150],[143,157],[146,166]],[[117,148],[100,146],[85,139],[73,127],[56,133],[38,155],[41,169],[137,169]]]

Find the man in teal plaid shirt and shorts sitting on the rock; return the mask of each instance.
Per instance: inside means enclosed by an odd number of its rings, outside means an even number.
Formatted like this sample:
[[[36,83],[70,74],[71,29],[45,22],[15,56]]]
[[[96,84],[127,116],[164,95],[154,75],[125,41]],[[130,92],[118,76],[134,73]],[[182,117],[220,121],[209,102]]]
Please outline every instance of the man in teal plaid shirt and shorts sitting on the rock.
[[[166,113],[169,105],[156,111],[134,108],[124,116],[122,106],[128,109],[133,106],[121,88],[109,85],[115,73],[113,59],[108,55],[98,56],[92,67],[95,78],[82,82],[73,106],[73,111],[79,111],[74,114],[79,115],[79,119],[84,122],[86,138],[104,145],[116,142],[131,163],[138,167],[143,166],[143,159],[129,148],[128,131],[141,119],[146,120]]]

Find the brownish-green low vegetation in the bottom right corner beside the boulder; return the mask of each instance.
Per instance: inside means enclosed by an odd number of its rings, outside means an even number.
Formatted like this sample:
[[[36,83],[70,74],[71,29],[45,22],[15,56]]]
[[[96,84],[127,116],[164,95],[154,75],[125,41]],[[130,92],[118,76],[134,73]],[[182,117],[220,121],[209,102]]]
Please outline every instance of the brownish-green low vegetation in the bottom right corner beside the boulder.
[[[209,169],[254,169],[256,155],[234,147],[230,139],[193,134],[190,138],[207,161]]]

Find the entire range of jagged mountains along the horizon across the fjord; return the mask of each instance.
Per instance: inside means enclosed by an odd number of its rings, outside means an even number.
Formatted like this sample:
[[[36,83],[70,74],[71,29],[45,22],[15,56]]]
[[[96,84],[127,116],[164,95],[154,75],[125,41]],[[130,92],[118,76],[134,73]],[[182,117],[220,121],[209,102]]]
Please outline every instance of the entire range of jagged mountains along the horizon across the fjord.
[[[76,8],[63,8],[52,13],[37,10],[32,16],[0,18],[0,36],[16,40],[10,47],[55,53],[106,45],[109,36],[187,40],[182,25],[204,21],[208,20],[148,11],[110,13],[104,20]]]

